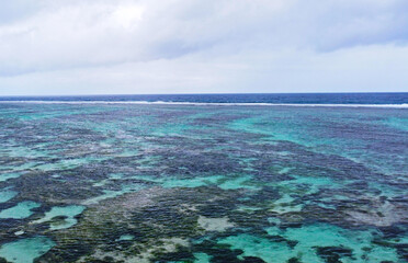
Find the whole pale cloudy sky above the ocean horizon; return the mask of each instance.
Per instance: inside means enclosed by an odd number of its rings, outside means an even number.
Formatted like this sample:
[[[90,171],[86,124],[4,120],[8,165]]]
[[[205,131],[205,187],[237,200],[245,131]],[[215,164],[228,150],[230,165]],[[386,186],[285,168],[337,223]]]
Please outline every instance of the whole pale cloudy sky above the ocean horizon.
[[[408,1],[0,2],[0,95],[241,92],[408,92]]]

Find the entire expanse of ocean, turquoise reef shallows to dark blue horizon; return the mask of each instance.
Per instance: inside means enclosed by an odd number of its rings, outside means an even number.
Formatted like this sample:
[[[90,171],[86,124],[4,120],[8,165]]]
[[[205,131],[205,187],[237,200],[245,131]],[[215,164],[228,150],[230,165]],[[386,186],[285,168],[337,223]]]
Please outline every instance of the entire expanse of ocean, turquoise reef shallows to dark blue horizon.
[[[0,262],[408,262],[407,93],[1,101]]]

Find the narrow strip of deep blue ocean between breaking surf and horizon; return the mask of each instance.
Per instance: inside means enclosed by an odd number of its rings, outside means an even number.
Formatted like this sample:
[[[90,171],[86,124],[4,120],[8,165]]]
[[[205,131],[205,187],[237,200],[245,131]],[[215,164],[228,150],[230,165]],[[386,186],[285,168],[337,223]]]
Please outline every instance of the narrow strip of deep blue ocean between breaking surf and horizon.
[[[151,94],[81,96],[0,96],[0,101],[64,102],[189,102],[271,104],[407,104],[404,93],[253,93],[253,94]]]

